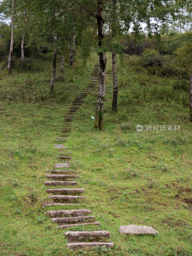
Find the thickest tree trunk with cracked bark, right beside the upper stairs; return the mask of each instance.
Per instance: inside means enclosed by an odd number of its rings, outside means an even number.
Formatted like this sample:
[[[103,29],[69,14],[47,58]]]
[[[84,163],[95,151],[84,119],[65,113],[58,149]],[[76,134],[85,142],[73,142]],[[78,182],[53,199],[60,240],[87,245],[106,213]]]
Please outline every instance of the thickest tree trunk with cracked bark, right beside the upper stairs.
[[[102,40],[104,38],[103,30],[103,13],[102,13],[102,1],[98,3],[97,8],[97,27],[98,27],[98,46],[102,46]],[[98,85],[98,95],[95,110],[95,122],[94,127],[100,130],[104,129],[103,126],[103,108],[105,100],[105,76],[106,76],[106,56],[105,52],[100,52],[99,54],[100,70],[99,70],[99,85]]]

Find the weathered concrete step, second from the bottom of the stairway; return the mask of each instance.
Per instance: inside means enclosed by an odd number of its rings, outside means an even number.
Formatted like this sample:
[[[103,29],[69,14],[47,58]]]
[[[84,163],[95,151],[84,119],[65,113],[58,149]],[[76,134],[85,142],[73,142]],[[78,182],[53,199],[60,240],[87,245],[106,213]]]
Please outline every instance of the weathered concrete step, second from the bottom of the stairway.
[[[99,240],[100,238],[110,238],[110,233],[108,231],[67,231],[64,232],[64,236],[69,240],[69,242],[89,239]]]

